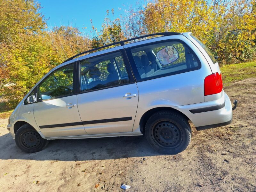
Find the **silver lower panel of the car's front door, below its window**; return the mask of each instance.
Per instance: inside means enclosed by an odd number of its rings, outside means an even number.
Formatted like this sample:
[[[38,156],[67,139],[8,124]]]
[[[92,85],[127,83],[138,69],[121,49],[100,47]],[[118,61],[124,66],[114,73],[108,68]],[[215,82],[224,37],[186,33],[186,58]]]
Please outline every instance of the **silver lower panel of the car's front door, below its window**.
[[[45,137],[87,135],[77,106],[66,107],[68,104],[77,105],[76,97],[71,95],[34,104],[36,124]],[[65,124],[77,122],[80,122],[80,125],[65,126]],[[51,125],[52,127],[42,128],[42,126]]]

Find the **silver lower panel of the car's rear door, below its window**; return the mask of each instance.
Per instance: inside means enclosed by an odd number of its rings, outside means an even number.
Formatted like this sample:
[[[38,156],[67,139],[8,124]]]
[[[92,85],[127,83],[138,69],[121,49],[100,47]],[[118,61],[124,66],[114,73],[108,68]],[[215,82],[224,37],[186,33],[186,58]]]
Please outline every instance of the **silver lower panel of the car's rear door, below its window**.
[[[126,93],[136,96],[124,99]],[[84,124],[85,131],[89,135],[132,132],[138,99],[139,92],[135,83],[78,94],[78,110],[83,122],[106,119],[109,121]],[[131,120],[115,120],[115,118],[128,117],[131,117]]]

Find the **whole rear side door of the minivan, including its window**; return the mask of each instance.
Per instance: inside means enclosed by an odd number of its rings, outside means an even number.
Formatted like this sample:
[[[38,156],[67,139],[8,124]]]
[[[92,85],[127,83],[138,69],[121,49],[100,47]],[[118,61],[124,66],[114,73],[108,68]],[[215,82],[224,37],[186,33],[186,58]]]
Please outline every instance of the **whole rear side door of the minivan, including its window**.
[[[79,62],[78,110],[88,134],[132,132],[139,92],[123,50]]]

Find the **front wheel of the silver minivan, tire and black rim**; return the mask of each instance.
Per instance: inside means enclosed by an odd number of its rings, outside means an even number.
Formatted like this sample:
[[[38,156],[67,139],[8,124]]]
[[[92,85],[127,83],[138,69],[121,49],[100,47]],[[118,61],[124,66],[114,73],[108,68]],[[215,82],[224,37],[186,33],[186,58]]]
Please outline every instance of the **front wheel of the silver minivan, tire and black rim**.
[[[43,139],[30,124],[24,124],[15,133],[15,142],[22,151],[35,153],[43,150],[49,140]]]

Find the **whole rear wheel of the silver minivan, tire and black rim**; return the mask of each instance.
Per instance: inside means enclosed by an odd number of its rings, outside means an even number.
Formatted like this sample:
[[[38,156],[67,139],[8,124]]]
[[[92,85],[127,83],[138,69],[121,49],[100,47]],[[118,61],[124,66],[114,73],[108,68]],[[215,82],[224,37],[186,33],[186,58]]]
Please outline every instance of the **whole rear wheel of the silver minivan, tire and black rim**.
[[[163,110],[149,117],[145,126],[148,143],[160,153],[175,155],[191,141],[191,127],[179,113]]]

